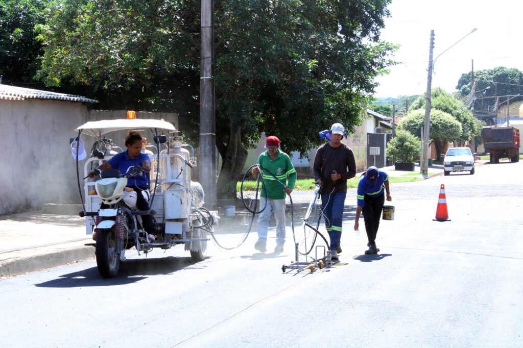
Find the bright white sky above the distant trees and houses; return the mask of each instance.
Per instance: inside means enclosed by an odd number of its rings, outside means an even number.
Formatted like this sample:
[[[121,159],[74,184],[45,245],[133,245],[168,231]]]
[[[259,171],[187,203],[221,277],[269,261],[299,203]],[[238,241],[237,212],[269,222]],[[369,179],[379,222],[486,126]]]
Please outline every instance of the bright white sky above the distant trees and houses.
[[[391,17],[385,19],[381,39],[400,45],[391,56],[399,64],[376,79],[374,97],[427,90],[430,30],[435,34],[434,59],[441,54],[434,63],[433,88],[455,91],[461,74],[471,71],[472,61],[474,71],[496,66],[523,71],[521,0],[393,0],[388,8]]]

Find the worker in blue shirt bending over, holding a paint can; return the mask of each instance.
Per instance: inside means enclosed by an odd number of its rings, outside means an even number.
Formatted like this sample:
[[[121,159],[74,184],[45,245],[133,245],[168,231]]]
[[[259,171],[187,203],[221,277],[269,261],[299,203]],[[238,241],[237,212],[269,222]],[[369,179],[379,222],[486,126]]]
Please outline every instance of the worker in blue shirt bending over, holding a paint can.
[[[387,201],[392,201],[389,191],[389,176],[382,170],[376,167],[369,167],[364,172],[358,182],[358,207],[356,208],[356,218],[354,221],[354,230],[359,228],[359,216],[363,212],[363,221],[365,221],[365,230],[367,231],[367,238],[369,242],[367,246],[369,250],[365,254],[376,254],[380,249],[376,247],[376,235],[378,234],[378,227],[380,226],[380,217],[385,203],[385,195]]]

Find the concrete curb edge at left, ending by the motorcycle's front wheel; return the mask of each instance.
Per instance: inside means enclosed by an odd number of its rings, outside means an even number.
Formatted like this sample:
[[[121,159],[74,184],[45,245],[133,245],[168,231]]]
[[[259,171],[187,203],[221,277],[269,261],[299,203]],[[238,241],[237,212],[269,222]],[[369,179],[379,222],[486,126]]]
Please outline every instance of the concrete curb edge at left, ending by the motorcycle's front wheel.
[[[69,262],[87,260],[93,258],[94,256],[95,248],[77,247],[25,258],[4,260],[0,261],[0,277],[3,278],[23,273],[40,271],[60,266]]]

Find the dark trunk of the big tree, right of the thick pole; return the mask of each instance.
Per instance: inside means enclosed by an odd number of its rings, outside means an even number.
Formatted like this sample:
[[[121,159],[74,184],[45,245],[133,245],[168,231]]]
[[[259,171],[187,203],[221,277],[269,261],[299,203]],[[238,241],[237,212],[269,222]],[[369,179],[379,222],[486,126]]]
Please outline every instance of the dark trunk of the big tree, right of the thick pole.
[[[238,178],[243,175],[243,166],[247,160],[247,149],[242,144],[241,128],[229,133],[229,143],[224,146],[217,137],[217,146],[222,158],[222,167],[216,187],[218,199],[235,199]]]

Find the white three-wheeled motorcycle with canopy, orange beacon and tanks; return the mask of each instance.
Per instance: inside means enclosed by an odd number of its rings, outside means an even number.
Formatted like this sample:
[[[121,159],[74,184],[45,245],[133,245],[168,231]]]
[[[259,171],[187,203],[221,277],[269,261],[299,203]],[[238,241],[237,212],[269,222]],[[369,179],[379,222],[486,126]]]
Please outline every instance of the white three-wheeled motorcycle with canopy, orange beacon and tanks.
[[[79,176],[78,189],[86,217],[86,234],[93,234],[96,241],[96,264],[104,278],[118,274],[120,262],[126,260],[126,250],[135,248],[138,254],[154,248],[169,249],[183,244],[194,261],[205,259],[207,230],[212,231],[212,213],[203,205],[203,189],[191,181],[191,169],[196,166],[194,153],[190,156],[187,144],[175,132],[173,124],[163,120],[119,119],[87,122],[79,126],[77,139],[82,134],[96,138],[96,144],[106,144],[106,134],[124,130],[151,130],[156,154],[151,157],[151,171],[133,166],[121,173],[118,169],[101,171],[89,179],[93,168],[109,160],[115,152],[94,149],[92,157],[84,164],[83,194]],[[162,134],[163,133],[163,134]],[[79,142],[78,142],[79,143]],[[80,146],[76,146],[76,157]],[[150,190],[135,192],[126,188],[129,177],[149,175]],[[149,202],[149,210],[137,210],[137,194]],[[85,197],[85,202],[84,198]],[[104,203],[103,205],[101,203]],[[101,206],[101,207],[100,207]],[[156,240],[149,238],[142,227],[141,216],[150,214],[156,227]]]

